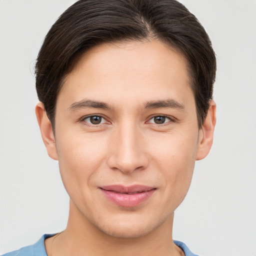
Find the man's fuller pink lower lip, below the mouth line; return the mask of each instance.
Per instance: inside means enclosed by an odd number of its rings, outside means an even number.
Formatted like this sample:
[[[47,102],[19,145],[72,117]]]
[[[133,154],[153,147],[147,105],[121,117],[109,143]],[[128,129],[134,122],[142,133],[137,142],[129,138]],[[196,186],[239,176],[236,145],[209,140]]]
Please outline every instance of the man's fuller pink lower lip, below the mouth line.
[[[101,191],[110,201],[119,206],[134,207],[147,200],[153,194],[155,189],[135,194],[118,193],[104,189],[101,189]]]

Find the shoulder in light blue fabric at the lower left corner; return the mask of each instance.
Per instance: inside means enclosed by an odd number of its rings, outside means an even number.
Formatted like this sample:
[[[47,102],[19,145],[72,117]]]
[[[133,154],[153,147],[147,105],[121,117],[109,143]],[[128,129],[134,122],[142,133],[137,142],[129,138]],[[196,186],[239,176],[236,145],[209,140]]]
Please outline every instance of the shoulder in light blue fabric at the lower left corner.
[[[47,256],[44,247],[44,240],[52,235],[53,234],[44,234],[36,243],[22,247],[18,250],[7,252],[2,256]]]

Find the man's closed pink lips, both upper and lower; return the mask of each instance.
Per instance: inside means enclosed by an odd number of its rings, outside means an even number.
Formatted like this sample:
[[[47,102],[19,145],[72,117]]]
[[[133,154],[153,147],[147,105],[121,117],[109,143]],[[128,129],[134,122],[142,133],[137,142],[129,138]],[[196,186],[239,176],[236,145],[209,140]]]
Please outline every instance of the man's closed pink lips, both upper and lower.
[[[111,202],[123,206],[134,207],[149,199],[156,190],[155,187],[145,185],[108,185],[100,187],[102,193]]]

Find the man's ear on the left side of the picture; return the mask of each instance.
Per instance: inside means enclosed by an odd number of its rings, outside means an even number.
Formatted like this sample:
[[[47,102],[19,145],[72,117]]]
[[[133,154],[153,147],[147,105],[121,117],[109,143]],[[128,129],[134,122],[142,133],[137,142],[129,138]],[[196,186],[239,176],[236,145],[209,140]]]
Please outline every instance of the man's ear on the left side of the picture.
[[[39,102],[35,106],[35,114],[41,131],[42,140],[47,149],[48,155],[52,159],[57,160],[58,156],[52,126],[42,102]]]

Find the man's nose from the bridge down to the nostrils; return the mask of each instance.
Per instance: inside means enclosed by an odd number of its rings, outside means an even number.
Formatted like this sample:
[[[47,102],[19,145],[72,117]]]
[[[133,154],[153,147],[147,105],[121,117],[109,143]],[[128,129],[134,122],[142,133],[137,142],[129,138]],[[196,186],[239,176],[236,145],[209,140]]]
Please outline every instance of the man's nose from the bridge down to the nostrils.
[[[142,132],[136,125],[121,125],[113,132],[107,164],[123,173],[142,170],[148,165]]]

